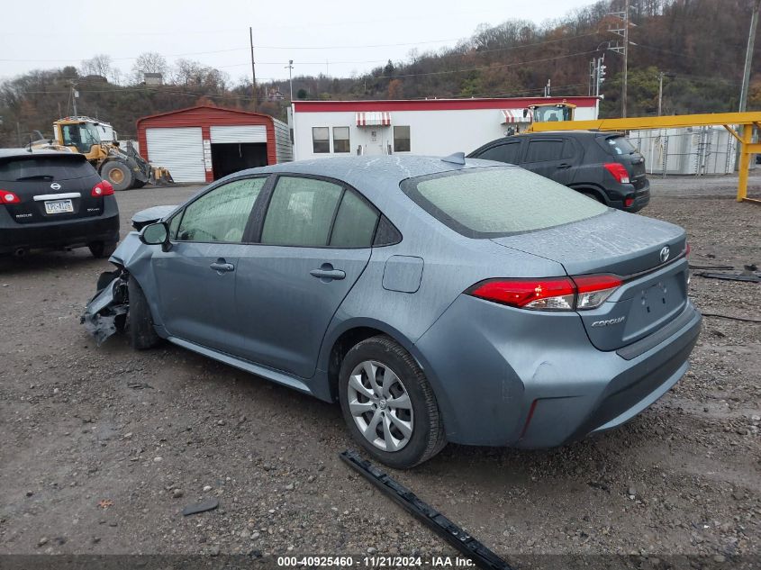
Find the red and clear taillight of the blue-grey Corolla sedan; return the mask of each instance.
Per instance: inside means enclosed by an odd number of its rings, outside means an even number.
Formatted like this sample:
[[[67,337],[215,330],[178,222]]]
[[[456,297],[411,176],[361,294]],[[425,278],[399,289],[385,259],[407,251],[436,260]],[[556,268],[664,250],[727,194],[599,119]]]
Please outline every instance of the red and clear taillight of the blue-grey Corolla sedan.
[[[467,294],[534,311],[584,311],[599,307],[623,282],[611,275],[551,279],[494,279]]]

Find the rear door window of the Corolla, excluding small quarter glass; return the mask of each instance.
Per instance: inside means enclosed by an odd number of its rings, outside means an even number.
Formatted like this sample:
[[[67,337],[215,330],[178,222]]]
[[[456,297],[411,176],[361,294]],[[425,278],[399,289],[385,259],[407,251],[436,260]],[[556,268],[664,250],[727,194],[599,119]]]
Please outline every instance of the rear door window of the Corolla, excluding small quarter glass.
[[[280,176],[267,208],[261,242],[324,248],[343,186],[298,176]]]

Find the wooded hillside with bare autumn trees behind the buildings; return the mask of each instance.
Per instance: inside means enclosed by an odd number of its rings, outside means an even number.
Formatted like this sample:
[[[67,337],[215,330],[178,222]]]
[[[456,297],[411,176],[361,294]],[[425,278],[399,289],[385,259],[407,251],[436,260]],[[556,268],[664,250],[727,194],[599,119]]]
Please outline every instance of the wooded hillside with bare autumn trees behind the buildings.
[[[631,0],[629,116],[657,111],[658,74],[666,72],[663,113],[736,111],[753,0]],[[538,3],[538,6],[540,3]],[[602,0],[538,25],[508,20],[482,24],[471,37],[437,51],[412,50],[358,77],[294,77],[300,99],[540,96],[548,80],[552,95],[587,95],[589,61],[605,54],[602,116],[621,113],[621,56],[609,45],[621,27],[611,12],[623,0]],[[413,38],[411,40],[414,40]],[[611,42],[611,43],[608,43]],[[296,62],[297,63],[297,62]],[[754,70],[761,66],[756,41]],[[144,72],[162,73],[165,85],[145,86]],[[752,76],[749,109],[761,109],[761,74]],[[251,110],[251,85],[232,85],[223,72],[181,59],[168,66],[160,54],[141,54],[122,76],[108,56],[80,68],[35,70],[0,84],[0,146],[28,141],[33,130],[50,136],[51,123],[77,110],[112,122],[122,138],[135,134],[135,120],[199,102]],[[285,101],[267,101],[287,81],[258,86],[258,110],[285,120]]]

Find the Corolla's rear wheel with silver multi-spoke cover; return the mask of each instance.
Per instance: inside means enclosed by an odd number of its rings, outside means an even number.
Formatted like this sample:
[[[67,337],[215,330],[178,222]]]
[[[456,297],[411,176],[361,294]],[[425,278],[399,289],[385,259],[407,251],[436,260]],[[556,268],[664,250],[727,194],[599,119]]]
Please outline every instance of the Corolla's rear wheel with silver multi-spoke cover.
[[[385,335],[349,350],[340,367],[339,398],[352,437],[387,466],[420,465],[447,444],[428,379],[410,353]]]

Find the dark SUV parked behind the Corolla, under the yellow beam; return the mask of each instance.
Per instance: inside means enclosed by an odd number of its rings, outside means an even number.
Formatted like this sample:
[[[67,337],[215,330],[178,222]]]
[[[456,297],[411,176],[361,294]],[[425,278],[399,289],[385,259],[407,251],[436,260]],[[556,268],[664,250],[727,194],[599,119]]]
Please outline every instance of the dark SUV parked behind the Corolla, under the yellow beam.
[[[620,132],[529,132],[467,156],[518,165],[626,212],[650,202],[645,158]]]

